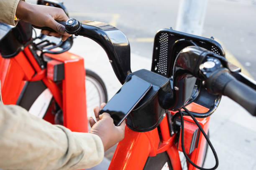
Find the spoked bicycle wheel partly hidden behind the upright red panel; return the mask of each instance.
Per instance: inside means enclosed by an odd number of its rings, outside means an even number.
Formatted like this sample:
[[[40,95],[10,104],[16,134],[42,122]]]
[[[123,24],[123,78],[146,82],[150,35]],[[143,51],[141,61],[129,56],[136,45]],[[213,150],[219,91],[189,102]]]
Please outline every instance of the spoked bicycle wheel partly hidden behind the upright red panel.
[[[108,102],[108,93],[103,80],[92,70],[86,69],[85,90],[87,104],[87,118],[94,117],[93,107],[99,106],[102,102]]]

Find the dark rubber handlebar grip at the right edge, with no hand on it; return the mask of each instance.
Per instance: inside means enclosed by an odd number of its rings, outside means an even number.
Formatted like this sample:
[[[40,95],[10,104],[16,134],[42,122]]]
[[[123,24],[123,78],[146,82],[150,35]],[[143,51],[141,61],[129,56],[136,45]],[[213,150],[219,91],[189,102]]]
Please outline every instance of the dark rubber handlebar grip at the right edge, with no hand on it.
[[[228,82],[223,90],[223,95],[243,106],[253,116],[256,116],[256,91],[251,87],[234,79]]]

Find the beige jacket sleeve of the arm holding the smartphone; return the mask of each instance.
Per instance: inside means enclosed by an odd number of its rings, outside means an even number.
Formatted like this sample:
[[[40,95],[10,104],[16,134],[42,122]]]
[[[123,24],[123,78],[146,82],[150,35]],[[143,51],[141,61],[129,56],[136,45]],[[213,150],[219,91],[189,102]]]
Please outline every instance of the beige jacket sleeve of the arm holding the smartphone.
[[[84,169],[103,157],[99,136],[71,132],[0,101],[0,169]]]

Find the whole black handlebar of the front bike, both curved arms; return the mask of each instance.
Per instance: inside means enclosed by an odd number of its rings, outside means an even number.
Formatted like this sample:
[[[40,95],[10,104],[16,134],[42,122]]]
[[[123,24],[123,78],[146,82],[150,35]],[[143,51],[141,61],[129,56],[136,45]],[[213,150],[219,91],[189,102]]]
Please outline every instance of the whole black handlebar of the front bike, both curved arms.
[[[121,84],[125,82],[125,78],[131,73],[131,67],[130,45],[123,32],[112,25],[96,21],[81,21],[80,23],[75,19],[69,19],[66,23],[63,21],[57,22],[65,25],[66,31],[69,34],[88,37],[101,45],[108,55],[118,80]],[[47,27],[33,27],[51,32],[54,31]],[[215,57],[220,61],[215,63],[214,69],[216,70],[200,68],[200,65],[206,61],[206,58],[209,59],[209,56]],[[213,60],[209,61],[213,62]],[[195,85],[196,79],[192,77],[193,75],[205,80],[209,91],[230,97],[252,115],[256,116],[256,91],[236,80],[230,74],[230,71],[225,68],[227,66],[226,62],[222,56],[215,55],[202,47],[189,46],[179,52],[173,73],[174,99],[176,101],[170,109],[179,109],[187,102],[192,94],[191,89]],[[181,90],[175,89],[175,87],[186,87],[184,90],[185,94]]]

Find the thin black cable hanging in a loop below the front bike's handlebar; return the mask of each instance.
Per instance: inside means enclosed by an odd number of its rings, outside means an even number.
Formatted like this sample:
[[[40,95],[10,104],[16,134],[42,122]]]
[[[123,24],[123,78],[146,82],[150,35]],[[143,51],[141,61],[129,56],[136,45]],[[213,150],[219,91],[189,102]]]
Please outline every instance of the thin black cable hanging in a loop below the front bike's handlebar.
[[[179,109],[179,114],[180,114],[180,119],[181,119],[181,138],[182,138],[182,152],[184,153],[184,156],[186,157],[186,159],[188,160],[189,163],[191,163],[195,168],[198,168],[200,170],[215,170],[216,168],[218,168],[218,165],[219,165],[219,160],[218,160],[218,156],[217,156],[217,153],[215,151],[215,149],[213,148],[212,146],[212,143],[210,142],[208,136],[206,135],[205,131],[202,129],[201,125],[197,122],[197,120],[195,119],[195,117],[189,112],[189,110],[187,110],[186,107],[182,107],[185,112],[187,112],[187,114],[194,120],[195,124],[198,126],[198,128],[200,129],[200,131],[202,132],[202,134],[204,135],[208,145],[210,146],[211,150],[212,150],[212,153],[214,155],[214,158],[215,158],[215,166],[213,168],[202,168],[202,167],[199,167],[197,166],[195,163],[192,162],[192,160],[189,159],[186,151],[185,151],[185,148],[184,148],[184,119],[183,119],[183,114],[182,114],[182,111]]]

